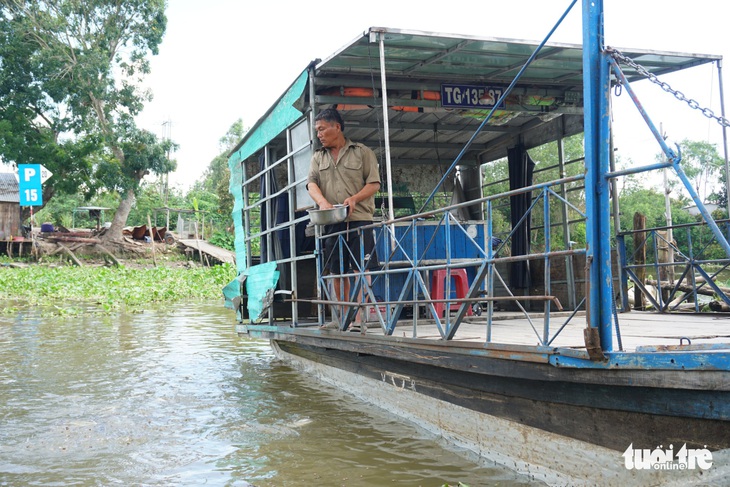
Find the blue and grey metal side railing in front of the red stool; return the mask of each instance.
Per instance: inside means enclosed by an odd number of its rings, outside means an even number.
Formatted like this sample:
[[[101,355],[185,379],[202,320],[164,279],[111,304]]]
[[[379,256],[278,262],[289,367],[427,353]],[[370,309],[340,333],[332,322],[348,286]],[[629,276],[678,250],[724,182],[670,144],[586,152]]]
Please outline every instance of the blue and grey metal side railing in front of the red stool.
[[[435,324],[443,340],[453,339],[461,323],[470,311],[479,311],[477,318],[471,318],[471,323],[483,323],[486,326],[487,342],[493,340],[492,324],[495,313],[494,304],[497,301],[511,301],[515,303],[529,326],[536,335],[540,344],[549,345],[557,337],[575,313],[584,304],[580,301],[573,312],[556,329],[551,328],[551,313],[562,311],[559,299],[551,294],[552,276],[551,259],[572,258],[585,255],[585,249],[553,250],[551,236],[551,208],[555,205],[568,205],[573,211],[585,218],[585,213],[568,202],[556,192],[561,185],[580,181],[582,175],[563,178],[546,183],[536,184],[518,190],[508,191],[498,195],[487,196],[479,200],[450,205],[439,210],[424,212],[392,221],[374,223],[350,231],[356,232],[360,239],[360,254],[352,255],[346,245],[347,231],[324,236],[320,231],[316,235],[316,249],[320,260],[320,269],[325,269],[327,262],[323,255],[324,239],[336,237],[337,245],[334,252],[340,257],[349,253],[353,262],[353,270],[346,272],[340,267],[339,273],[320,273],[318,276],[319,295],[322,299],[310,301],[320,307],[320,323],[324,322],[324,307],[331,305],[333,319],[339,323],[341,329],[346,329],[355,320],[358,310],[370,307],[376,321],[385,335],[392,335],[399,324],[404,324],[404,311],[410,309],[412,314],[413,336],[418,336],[418,324]],[[559,190],[558,190],[559,191]],[[492,208],[493,203],[503,198],[518,194],[534,192],[532,204],[514,225],[513,230],[503,240],[493,238]],[[479,203],[486,204],[486,219],[479,222],[460,222],[454,215],[454,210],[463,206]],[[537,214],[542,206],[542,251],[529,255],[507,255],[509,243],[515,229],[525,220]],[[430,219],[430,220],[429,220]],[[427,229],[428,231],[424,230]],[[380,266],[377,270],[366,269],[365,255],[362,250],[364,232],[373,232],[376,248],[383,252],[380,256]],[[455,242],[462,247],[459,250],[452,248]],[[520,261],[540,260],[543,264],[542,287],[544,292],[539,295],[517,295],[513,292],[498,266]],[[342,262],[342,259],[340,259]],[[464,269],[469,272],[469,287],[466,295],[453,297],[451,286],[451,271]],[[449,276],[445,280],[443,296],[434,296],[429,285],[429,275],[437,271],[446,271]],[[350,296],[336,296],[333,291],[335,279],[351,279]],[[497,291],[501,290],[502,295]],[[379,296],[383,294],[384,296]],[[542,326],[537,325],[530,312],[522,303],[539,301],[543,303]],[[444,316],[437,312],[437,304],[443,304]],[[486,315],[482,305],[486,305]],[[452,309],[452,305],[454,309]],[[421,311],[423,315],[421,316]]]

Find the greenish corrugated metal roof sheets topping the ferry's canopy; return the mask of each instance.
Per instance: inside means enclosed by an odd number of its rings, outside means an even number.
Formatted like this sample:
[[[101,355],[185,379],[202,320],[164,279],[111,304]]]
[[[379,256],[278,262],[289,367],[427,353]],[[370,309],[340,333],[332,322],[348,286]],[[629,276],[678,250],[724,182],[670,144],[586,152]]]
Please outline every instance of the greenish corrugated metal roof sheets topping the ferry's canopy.
[[[377,42],[380,37],[384,41],[385,70],[389,76],[438,81],[509,84],[539,45],[521,39],[371,27],[317,64],[317,70],[322,74],[348,75],[379,72]],[[722,58],[633,48],[619,50],[657,76]],[[582,56],[579,44],[547,43],[523,74],[520,84],[582,88]],[[623,69],[629,81],[641,78],[635,69]]]

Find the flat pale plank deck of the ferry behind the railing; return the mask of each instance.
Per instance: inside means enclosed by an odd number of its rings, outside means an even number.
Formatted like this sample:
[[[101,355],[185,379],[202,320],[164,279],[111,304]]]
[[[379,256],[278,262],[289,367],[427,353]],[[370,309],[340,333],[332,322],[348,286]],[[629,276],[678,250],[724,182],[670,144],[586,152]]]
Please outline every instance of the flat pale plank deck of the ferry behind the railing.
[[[550,337],[568,320],[568,313],[551,315]],[[532,321],[532,325],[530,324]],[[730,315],[724,314],[658,314],[632,311],[619,315],[621,344],[625,351],[636,351],[637,347],[677,346],[680,340],[687,345],[708,346],[728,344],[730,348]],[[442,325],[443,326],[443,325]],[[522,313],[495,313],[492,319],[492,343],[507,345],[539,345],[538,335],[543,333],[542,315],[532,316],[530,320]],[[585,313],[574,316],[563,328],[550,346],[584,348],[583,329],[586,326]],[[381,335],[377,323],[368,323],[368,335]],[[394,336],[439,340],[441,335],[433,320],[418,320],[416,334],[413,322],[401,320]],[[486,342],[487,321],[484,317],[467,317],[459,326],[453,340]],[[614,327],[614,350],[618,350],[618,339]]]

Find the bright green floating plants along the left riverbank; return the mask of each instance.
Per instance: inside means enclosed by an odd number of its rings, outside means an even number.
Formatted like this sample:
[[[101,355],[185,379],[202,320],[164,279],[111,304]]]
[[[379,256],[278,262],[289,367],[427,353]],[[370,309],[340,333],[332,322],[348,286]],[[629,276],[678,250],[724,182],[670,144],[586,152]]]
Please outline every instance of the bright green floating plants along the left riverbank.
[[[221,299],[236,276],[230,264],[213,267],[0,267],[0,309],[38,306],[44,313],[143,311],[152,304]]]

